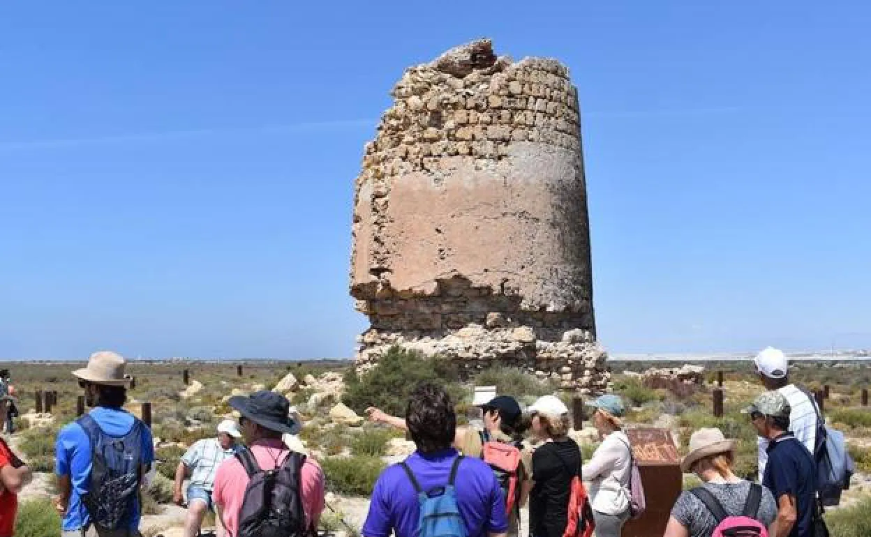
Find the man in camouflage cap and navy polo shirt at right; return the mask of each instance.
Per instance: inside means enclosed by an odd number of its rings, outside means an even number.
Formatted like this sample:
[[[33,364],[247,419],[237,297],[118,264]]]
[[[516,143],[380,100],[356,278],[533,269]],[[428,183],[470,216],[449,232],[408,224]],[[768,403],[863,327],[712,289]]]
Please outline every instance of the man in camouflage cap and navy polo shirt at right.
[[[771,537],[813,537],[816,504],[816,467],[807,447],[789,433],[791,408],[780,392],[762,393],[744,412],[769,441],[768,463],[762,484],[777,500],[777,518]]]

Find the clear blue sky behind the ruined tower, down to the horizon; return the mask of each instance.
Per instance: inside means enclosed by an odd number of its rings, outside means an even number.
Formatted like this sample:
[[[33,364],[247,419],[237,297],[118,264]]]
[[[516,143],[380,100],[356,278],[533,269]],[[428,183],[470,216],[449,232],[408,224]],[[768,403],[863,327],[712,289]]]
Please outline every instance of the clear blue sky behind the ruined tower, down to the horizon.
[[[347,357],[352,185],[411,64],[557,57],[611,352],[871,346],[867,3],[13,3],[0,358]]]

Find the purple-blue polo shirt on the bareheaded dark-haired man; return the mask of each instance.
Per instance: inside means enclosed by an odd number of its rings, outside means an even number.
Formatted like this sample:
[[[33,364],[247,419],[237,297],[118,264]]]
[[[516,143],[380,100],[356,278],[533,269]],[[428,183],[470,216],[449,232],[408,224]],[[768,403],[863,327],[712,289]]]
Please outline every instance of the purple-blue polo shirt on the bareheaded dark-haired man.
[[[412,453],[405,460],[424,491],[448,484],[456,449],[436,453]],[[456,474],[456,503],[469,537],[508,531],[502,487],[493,470],[482,460],[463,458]],[[399,465],[388,467],[375,482],[369,513],[361,533],[365,537],[415,537],[420,505],[415,487]]]

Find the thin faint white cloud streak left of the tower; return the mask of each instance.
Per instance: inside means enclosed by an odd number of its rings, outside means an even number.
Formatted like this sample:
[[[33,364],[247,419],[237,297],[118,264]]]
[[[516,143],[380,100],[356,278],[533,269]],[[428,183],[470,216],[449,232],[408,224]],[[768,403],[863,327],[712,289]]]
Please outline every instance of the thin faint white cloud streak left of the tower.
[[[55,138],[44,140],[0,141],[0,151],[62,149],[95,144],[127,144],[131,142],[159,142],[172,139],[223,136],[227,134],[282,133],[339,131],[360,127],[375,127],[377,119],[343,119],[336,121],[300,122],[294,124],[260,125],[256,127],[191,129],[186,131],[139,132],[93,138]]]

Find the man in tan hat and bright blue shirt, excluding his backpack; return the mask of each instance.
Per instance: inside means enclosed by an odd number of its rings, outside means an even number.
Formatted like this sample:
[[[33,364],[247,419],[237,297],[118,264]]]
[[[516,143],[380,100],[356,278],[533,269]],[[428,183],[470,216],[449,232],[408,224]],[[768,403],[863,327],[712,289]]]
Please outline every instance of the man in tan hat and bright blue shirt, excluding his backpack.
[[[124,368],[125,359],[115,352],[95,352],[87,367],[72,373],[84,388],[85,402],[93,407],[89,415],[103,433],[114,437],[130,433],[136,420],[123,408],[130,382]],[[145,475],[154,461],[154,445],[151,430],[145,426],[141,430],[140,475]],[[60,491],[56,507],[64,516],[63,537],[109,537],[98,533],[82,503],[82,495],[91,486],[91,440],[75,421],[57,434],[55,473]],[[112,532],[111,537],[138,537],[139,517],[137,499],[132,513],[125,517],[129,520],[126,529]]]

